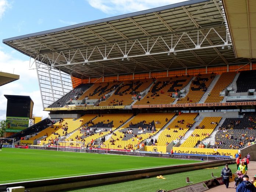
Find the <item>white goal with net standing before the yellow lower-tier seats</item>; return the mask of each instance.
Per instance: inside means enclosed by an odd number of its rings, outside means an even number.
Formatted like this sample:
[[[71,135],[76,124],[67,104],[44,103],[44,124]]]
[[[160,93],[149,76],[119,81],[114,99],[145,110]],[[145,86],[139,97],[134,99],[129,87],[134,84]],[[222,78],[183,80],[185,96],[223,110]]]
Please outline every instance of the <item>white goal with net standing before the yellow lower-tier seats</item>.
[[[82,142],[79,141],[58,141],[57,151],[82,152]]]

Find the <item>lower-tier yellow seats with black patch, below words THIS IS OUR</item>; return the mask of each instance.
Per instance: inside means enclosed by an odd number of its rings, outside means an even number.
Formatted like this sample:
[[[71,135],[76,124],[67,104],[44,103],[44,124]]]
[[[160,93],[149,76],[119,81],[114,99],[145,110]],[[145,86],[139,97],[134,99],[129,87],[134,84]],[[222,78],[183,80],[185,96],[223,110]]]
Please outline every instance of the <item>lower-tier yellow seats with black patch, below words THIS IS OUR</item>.
[[[138,114],[128,121],[124,128],[115,131],[104,145],[111,149],[137,149],[141,142],[157,134],[174,115],[174,113]]]

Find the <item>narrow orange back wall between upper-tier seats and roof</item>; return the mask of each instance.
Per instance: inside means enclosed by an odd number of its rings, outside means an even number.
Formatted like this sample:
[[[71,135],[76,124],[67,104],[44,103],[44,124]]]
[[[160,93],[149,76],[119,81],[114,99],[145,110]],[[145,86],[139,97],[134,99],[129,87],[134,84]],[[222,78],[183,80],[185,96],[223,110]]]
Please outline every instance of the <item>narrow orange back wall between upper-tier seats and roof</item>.
[[[239,64],[239,65],[229,65],[227,68],[227,65],[225,66],[219,66],[219,67],[208,67],[207,68],[207,73],[216,73],[218,75],[221,75],[223,72],[234,72],[234,71],[247,71],[250,70],[250,64],[244,65],[244,64]],[[256,64],[252,64],[252,70],[256,70]],[[192,75],[196,76],[198,74],[205,74],[206,73],[206,68],[194,68],[194,69],[188,69],[187,70],[187,75]],[[181,76],[181,75],[186,75],[186,70],[174,70],[174,71],[168,71],[168,77],[174,77],[174,76]],[[167,71],[161,71],[161,72],[152,72],[151,74],[149,73],[140,73],[140,74],[134,74],[134,77],[132,74],[127,74],[127,75],[119,75],[118,77],[115,76],[107,76],[107,77],[93,77],[90,78],[90,83],[94,82],[113,82],[113,81],[127,81],[127,80],[132,80],[132,79],[147,79],[147,78],[161,78],[161,77],[167,77]],[[73,88],[78,86],[81,83],[89,83],[89,78],[84,78],[84,79],[79,79],[75,77],[71,77],[72,83],[73,83]]]

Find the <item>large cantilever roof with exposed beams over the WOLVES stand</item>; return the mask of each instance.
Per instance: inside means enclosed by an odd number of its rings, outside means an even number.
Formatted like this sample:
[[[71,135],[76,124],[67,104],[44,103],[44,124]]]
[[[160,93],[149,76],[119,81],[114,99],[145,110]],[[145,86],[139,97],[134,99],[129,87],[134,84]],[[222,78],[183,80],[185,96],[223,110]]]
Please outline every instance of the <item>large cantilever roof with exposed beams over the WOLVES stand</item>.
[[[221,46],[220,6],[218,0],[185,1],[3,43],[79,78],[248,63],[235,58],[232,46]]]

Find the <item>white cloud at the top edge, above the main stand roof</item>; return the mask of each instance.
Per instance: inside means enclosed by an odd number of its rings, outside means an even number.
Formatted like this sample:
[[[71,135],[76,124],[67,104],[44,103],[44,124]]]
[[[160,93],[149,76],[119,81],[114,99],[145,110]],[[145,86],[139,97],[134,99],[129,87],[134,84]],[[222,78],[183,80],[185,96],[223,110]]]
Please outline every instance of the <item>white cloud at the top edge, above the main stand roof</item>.
[[[90,6],[107,14],[124,14],[166,6],[185,0],[87,0]]]

